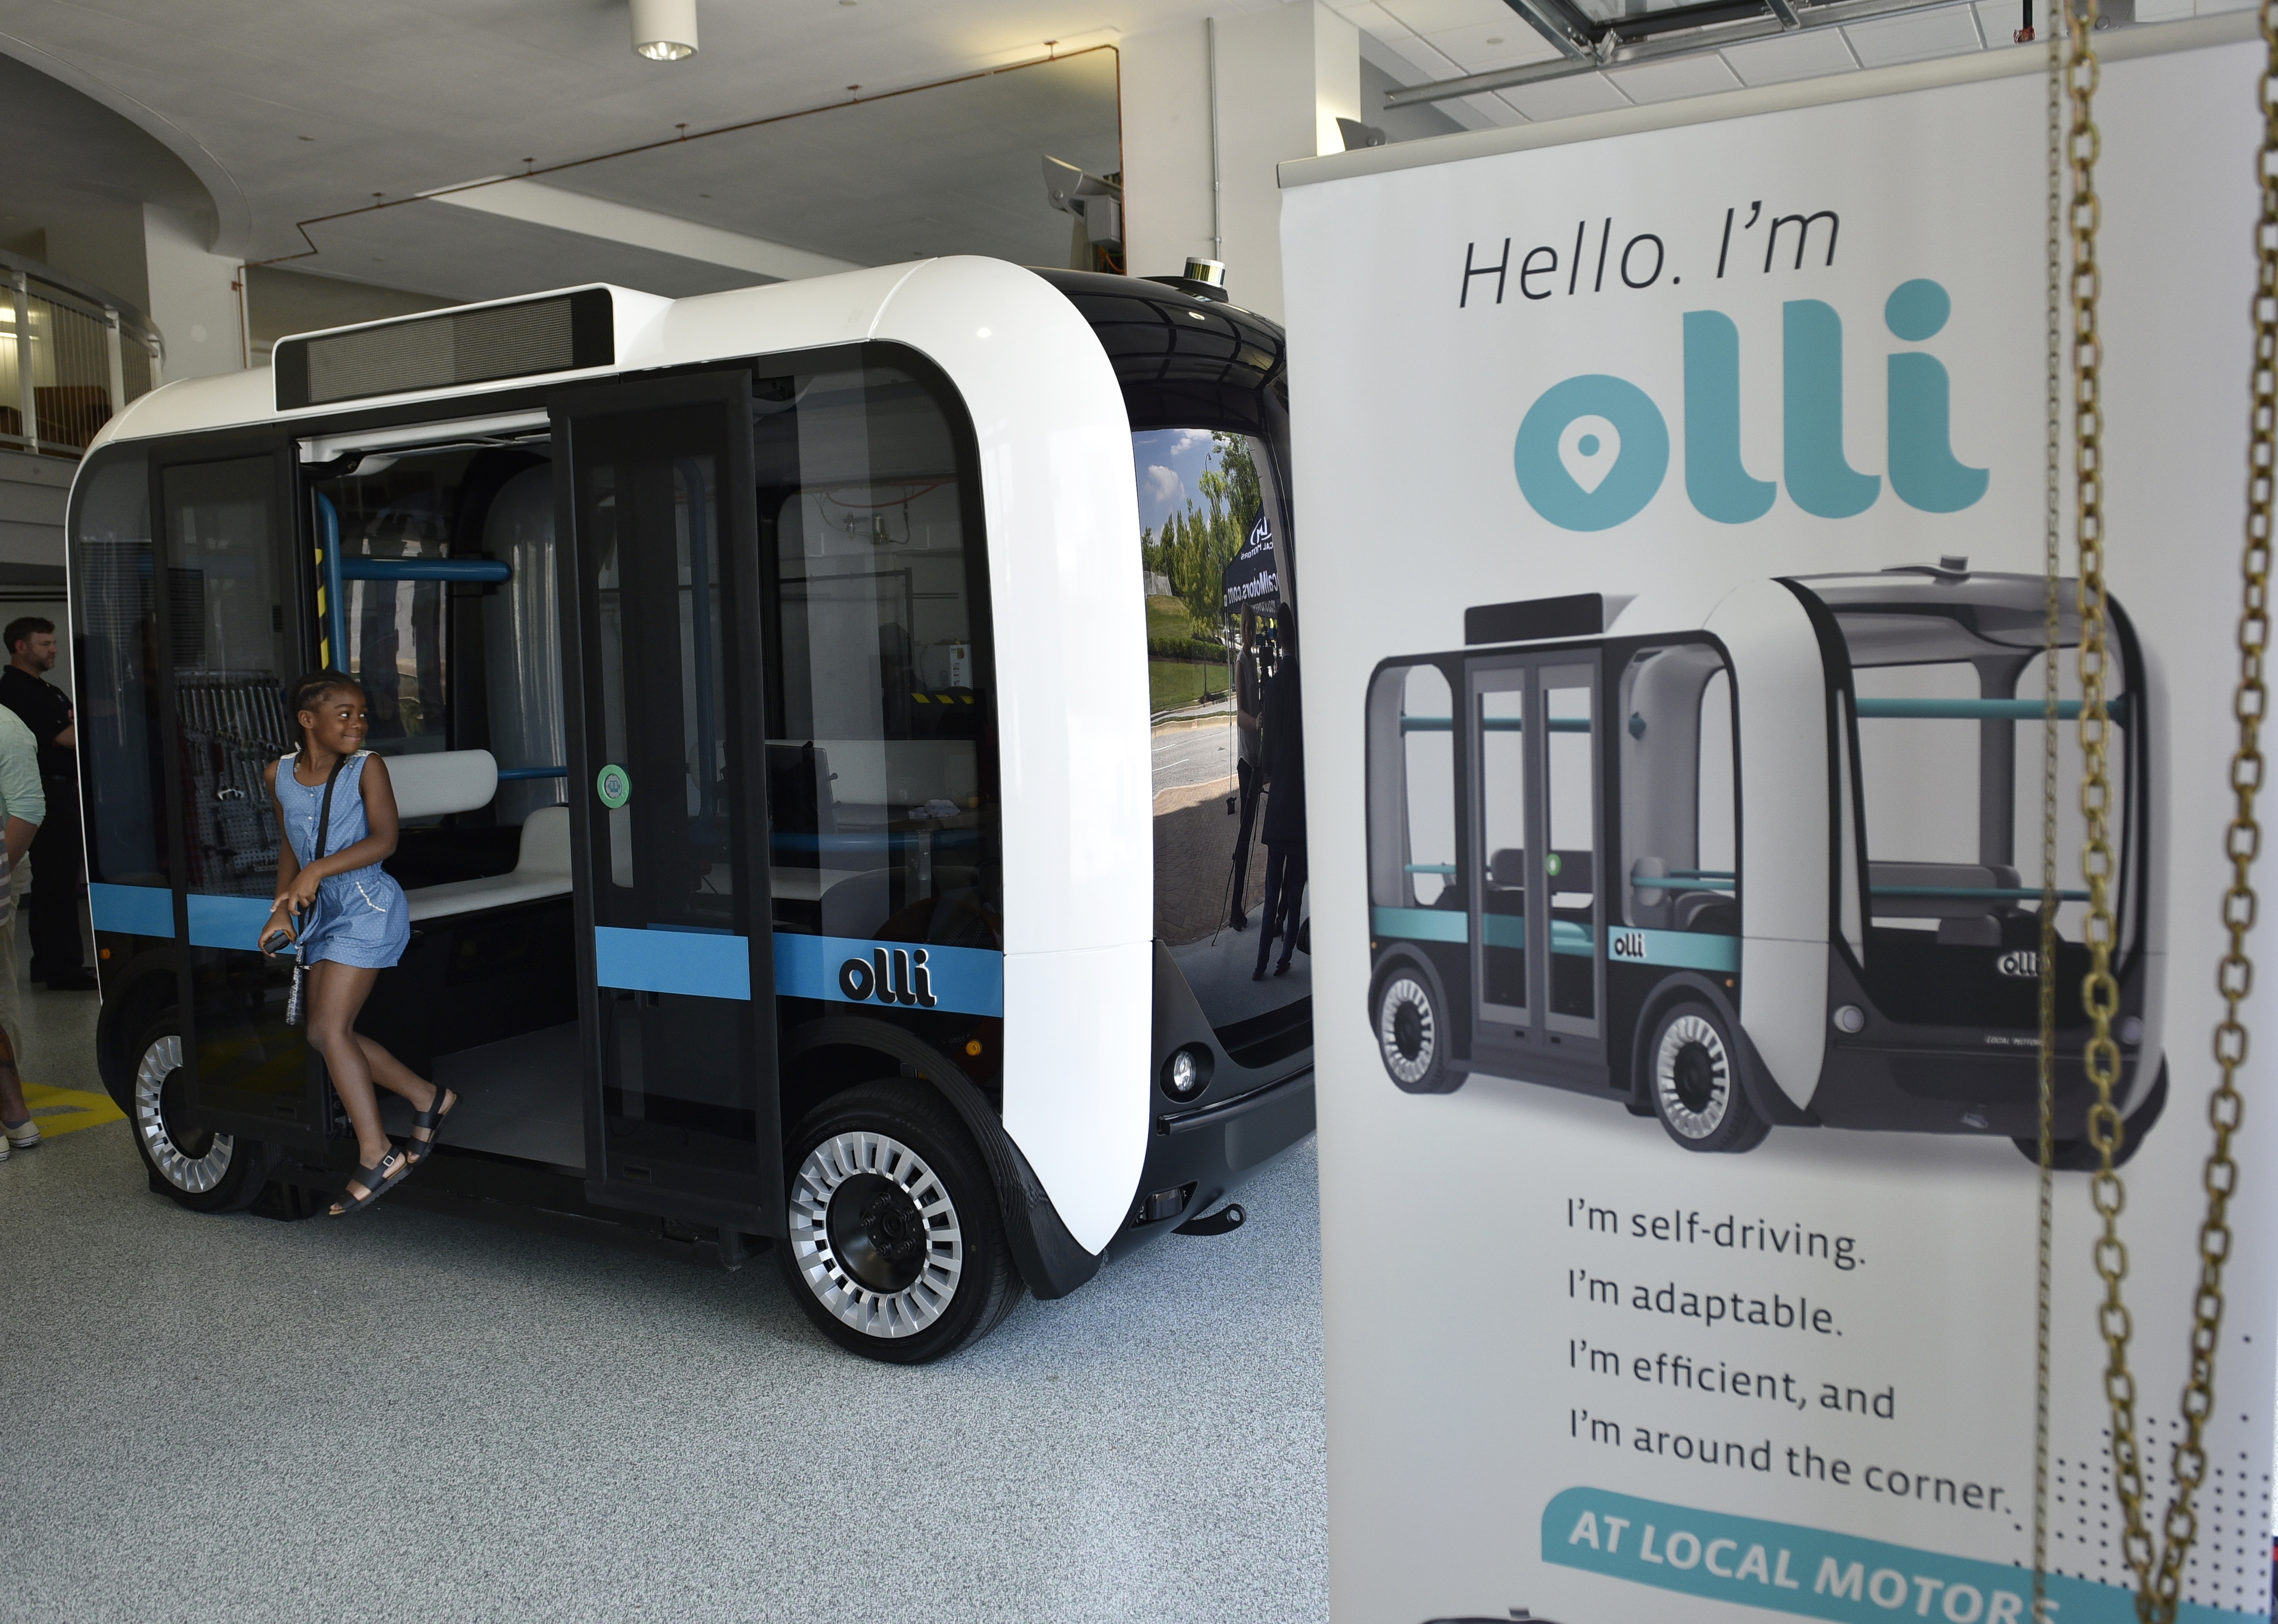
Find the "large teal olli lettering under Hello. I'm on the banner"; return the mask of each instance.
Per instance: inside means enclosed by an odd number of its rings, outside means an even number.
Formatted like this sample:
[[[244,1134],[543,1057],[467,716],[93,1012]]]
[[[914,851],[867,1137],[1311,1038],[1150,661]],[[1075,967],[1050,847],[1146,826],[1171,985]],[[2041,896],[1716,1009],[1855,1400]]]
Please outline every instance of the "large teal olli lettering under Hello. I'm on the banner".
[[[1923,344],[1945,328],[1952,298],[1929,278],[1900,282],[1882,319],[1893,337]],[[1720,310],[1683,317],[1686,497],[1718,524],[1772,510],[1779,483],[1740,460],[1740,328]],[[1945,362],[1923,351],[1888,358],[1888,481],[1909,508],[1959,512],[1986,494],[1991,474],[1961,462],[1948,435]],[[1781,305],[1781,478],[1788,499],[1820,519],[1866,512],[1882,474],[1843,453],[1843,317],[1818,298]],[[1526,410],[1513,446],[1526,503],[1563,531],[1608,531],[1645,510],[1670,469],[1670,426],[1654,399],[1611,374],[1554,383]]]

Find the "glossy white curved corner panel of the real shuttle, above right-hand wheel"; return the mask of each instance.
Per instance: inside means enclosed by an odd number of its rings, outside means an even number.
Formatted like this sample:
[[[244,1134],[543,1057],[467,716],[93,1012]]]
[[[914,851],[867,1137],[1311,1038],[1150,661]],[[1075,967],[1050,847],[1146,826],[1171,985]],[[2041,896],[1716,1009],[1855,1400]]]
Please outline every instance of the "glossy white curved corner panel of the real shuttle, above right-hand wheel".
[[[986,326],[975,312],[989,312]],[[957,385],[980,442],[1005,786],[1005,1132],[1068,1232],[1146,1162],[1155,831],[1130,417],[1098,337],[993,260],[909,276],[872,337]]]

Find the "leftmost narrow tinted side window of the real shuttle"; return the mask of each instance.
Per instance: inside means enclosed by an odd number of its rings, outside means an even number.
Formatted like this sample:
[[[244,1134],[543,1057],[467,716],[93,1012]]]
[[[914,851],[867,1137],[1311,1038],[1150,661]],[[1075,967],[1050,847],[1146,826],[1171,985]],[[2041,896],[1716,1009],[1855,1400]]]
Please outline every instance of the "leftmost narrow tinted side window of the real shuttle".
[[[114,456],[84,474],[71,533],[87,877],[98,886],[164,886],[148,465]]]

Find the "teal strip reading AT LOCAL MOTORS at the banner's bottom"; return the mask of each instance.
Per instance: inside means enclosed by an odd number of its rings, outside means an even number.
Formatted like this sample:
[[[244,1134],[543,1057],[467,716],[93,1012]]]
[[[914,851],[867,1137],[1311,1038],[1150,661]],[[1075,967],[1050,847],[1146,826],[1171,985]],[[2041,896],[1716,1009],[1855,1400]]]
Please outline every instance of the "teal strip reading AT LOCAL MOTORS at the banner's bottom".
[[[1542,1560],[1836,1624],[1893,1617],[2032,1622],[2032,1572],[2023,1567],[1608,1490],[1565,1490],[1542,1508]],[[2064,1624],[2134,1624],[2134,1592],[2119,1585],[2050,1574],[2048,1594]],[[2180,1624],[2235,1624],[2260,1615],[2187,1601],[2175,1617]]]

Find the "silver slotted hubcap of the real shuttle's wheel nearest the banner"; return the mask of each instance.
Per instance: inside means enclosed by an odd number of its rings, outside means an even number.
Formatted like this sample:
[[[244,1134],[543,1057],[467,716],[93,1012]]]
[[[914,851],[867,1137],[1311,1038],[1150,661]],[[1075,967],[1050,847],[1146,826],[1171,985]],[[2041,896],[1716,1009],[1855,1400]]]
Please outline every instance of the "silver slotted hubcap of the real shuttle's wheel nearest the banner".
[[[900,1139],[852,1132],[806,1153],[790,1189],[790,1255],[831,1314],[866,1337],[909,1337],[957,1296],[957,1203]]]

